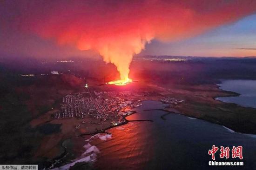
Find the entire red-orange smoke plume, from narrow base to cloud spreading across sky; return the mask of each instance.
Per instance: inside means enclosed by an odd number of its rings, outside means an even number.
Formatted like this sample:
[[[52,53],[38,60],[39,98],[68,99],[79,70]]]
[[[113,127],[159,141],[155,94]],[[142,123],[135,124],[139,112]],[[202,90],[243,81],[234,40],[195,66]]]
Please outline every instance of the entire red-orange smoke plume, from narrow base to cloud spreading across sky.
[[[128,78],[133,55],[150,40],[189,38],[256,10],[254,0],[20,0],[4,5],[18,11],[14,26],[98,52],[117,67],[121,80]]]

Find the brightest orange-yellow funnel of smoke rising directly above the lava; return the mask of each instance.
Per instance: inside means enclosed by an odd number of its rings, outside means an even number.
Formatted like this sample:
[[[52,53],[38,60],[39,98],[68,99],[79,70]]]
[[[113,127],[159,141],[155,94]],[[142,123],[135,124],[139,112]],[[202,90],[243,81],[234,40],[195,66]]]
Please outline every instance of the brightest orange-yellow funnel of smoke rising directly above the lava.
[[[139,33],[115,34],[113,37],[102,37],[98,42],[91,43],[86,39],[78,41],[80,50],[94,49],[103,57],[106,63],[113,63],[118,72],[120,79],[128,80],[129,65],[133,55],[141,52],[145,48],[145,44],[153,37],[141,37]],[[88,42],[90,44],[88,44]]]

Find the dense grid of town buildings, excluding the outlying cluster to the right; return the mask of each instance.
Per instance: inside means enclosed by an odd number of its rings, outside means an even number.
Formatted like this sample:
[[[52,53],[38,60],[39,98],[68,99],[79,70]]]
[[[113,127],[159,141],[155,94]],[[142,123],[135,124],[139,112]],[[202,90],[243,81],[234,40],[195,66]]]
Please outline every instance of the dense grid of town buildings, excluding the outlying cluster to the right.
[[[128,91],[90,92],[89,90],[67,94],[62,99],[60,111],[52,114],[51,118],[85,119],[89,117],[100,121],[110,121],[113,125],[117,125],[123,121],[122,116],[141,105],[141,100],[134,99],[135,95],[137,94]],[[116,120],[119,121],[116,122]]]

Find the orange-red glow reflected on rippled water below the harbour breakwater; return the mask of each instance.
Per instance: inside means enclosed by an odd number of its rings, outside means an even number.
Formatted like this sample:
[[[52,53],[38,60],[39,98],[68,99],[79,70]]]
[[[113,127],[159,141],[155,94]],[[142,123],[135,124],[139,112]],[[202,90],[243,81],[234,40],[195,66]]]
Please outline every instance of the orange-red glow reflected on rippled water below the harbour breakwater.
[[[111,139],[93,141],[101,151],[95,167],[109,170],[145,169],[154,155],[151,125],[151,122],[130,122],[110,129]]]

